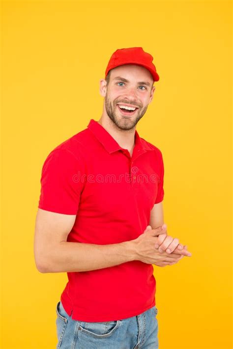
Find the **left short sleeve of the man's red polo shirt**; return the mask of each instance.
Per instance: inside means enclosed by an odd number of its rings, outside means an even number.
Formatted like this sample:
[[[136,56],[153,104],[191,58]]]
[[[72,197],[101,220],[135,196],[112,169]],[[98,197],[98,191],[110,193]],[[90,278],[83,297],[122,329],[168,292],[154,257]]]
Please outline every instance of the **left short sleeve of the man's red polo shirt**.
[[[84,185],[82,168],[81,161],[69,150],[53,150],[42,167],[38,208],[76,215]]]

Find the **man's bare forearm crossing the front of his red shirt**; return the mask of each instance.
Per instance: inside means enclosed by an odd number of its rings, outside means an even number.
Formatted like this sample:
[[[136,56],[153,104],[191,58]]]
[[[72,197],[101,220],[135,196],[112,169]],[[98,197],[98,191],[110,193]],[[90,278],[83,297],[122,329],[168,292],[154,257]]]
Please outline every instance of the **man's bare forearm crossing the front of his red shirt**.
[[[133,261],[135,256],[133,241],[108,245],[62,241],[48,251],[41,272],[72,272],[108,268]]]

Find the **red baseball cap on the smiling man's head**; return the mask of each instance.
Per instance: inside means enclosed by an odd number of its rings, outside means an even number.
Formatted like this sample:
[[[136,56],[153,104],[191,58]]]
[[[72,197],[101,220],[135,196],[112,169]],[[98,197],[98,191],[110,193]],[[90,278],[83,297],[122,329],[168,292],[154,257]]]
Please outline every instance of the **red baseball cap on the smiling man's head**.
[[[159,81],[159,76],[156,72],[155,65],[152,63],[153,57],[147,54],[142,47],[129,47],[127,49],[118,49],[115,51],[108,63],[105,71],[105,78],[108,72],[123,64],[142,65],[151,73],[154,81]]]

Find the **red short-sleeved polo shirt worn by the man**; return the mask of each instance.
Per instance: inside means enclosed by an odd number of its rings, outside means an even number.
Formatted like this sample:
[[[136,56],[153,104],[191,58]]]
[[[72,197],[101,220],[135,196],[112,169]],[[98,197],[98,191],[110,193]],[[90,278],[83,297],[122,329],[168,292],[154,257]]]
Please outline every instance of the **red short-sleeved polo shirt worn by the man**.
[[[91,119],[87,128],[46,158],[38,207],[76,215],[68,242],[111,244],[134,240],[163,200],[161,151],[135,131],[132,157]],[[67,272],[61,294],[72,319],[105,322],[136,316],[155,305],[153,266],[141,261]]]

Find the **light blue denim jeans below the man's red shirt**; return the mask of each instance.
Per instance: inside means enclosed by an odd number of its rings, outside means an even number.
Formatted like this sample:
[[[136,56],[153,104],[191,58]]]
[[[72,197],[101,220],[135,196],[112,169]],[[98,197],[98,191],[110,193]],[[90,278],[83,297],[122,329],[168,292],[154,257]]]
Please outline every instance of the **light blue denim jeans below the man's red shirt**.
[[[108,322],[73,320],[59,301],[56,349],[158,349],[156,306],[131,318]]]

